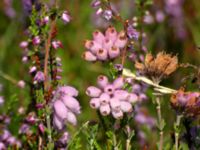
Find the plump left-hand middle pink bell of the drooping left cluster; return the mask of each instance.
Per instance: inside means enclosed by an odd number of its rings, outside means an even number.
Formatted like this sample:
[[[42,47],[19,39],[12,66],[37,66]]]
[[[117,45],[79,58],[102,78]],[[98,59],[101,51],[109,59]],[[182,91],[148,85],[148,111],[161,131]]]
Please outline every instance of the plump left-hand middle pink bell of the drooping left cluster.
[[[67,108],[65,107],[65,104],[62,101],[56,100],[53,104],[53,108],[54,108],[56,115],[60,119],[63,120],[63,119],[67,118]]]

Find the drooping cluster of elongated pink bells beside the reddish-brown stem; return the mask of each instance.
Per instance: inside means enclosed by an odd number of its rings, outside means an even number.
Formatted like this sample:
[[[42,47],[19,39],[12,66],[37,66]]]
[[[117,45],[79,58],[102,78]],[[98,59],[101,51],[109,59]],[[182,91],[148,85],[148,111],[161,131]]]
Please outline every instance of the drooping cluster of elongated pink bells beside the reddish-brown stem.
[[[60,86],[54,92],[53,124],[56,129],[62,130],[65,122],[77,124],[76,115],[80,114],[80,104],[75,98],[77,96],[78,91],[71,86]]]

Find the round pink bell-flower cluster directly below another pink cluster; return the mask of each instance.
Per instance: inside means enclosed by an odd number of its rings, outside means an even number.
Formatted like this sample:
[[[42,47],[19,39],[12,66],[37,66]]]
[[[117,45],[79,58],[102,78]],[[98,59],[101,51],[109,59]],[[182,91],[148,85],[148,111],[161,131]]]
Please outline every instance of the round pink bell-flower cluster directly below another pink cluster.
[[[98,87],[90,86],[86,90],[86,94],[91,97],[90,106],[93,109],[99,109],[103,116],[112,114],[115,119],[121,119],[124,113],[132,112],[132,104],[138,101],[138,96],[123,90],[123,77],[110,83],[106,76],[100,75],[97,84]]]

